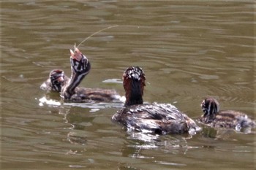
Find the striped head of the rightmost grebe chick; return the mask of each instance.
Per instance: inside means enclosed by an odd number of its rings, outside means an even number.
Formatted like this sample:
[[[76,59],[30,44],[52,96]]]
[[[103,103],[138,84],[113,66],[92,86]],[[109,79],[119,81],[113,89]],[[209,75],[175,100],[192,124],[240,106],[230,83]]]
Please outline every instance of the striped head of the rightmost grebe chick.
[[[212,118],[219,112],[219,102],[215,98],[204,99],[201,107],[204,112],[203,117]]]

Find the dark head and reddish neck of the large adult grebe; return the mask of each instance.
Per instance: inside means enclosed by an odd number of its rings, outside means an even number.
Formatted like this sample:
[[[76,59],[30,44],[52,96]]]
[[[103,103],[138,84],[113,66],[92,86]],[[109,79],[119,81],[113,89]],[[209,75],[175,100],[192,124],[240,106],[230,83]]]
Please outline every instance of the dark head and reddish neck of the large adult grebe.
[[[123,85],[125,90],[125,106],[143,104],[143,90],[145,86],[145,74],[138,66],[130,66],[123,74]]]

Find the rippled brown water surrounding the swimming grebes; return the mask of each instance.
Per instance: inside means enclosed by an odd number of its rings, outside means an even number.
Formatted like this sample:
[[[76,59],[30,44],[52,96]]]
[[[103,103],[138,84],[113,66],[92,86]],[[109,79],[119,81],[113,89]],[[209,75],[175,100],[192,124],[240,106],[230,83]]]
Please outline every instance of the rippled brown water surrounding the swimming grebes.
[[[157,136],[124,131],[121,104],[65,104],[39,85],[70,74],[69,48],[91,61],[84,87],[124,90],[128,66],[146,73],[144,101],[189,117],[216,97],[254,117],[253,1],[2,1],[1,169],[255,169],[252,133]]]

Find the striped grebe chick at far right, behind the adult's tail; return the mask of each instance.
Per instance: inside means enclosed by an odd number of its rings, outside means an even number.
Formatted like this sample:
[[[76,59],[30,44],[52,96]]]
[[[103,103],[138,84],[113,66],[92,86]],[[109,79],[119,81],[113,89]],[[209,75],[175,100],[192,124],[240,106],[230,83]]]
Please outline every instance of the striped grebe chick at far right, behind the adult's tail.
[[[234,110],[219,111],[219,102],[215,98],[206,98],[201,104],[204,114],[200,122],[219,128],[241,128],[255,127],[256,123],[246,114]]]

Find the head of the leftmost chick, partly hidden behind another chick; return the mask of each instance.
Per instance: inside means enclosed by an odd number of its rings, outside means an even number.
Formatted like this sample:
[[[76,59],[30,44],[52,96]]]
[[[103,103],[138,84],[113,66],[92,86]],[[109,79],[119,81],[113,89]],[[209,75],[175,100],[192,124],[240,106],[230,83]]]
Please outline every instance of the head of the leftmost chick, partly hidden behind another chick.
[[[53,69],[50,72],[49,77],[50,77],[50,82],[53,86],[53,90],[60,92],[64,82],[64,78],[65,78],[64,71],[61,69]]]

